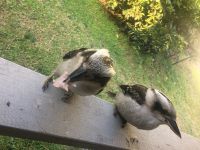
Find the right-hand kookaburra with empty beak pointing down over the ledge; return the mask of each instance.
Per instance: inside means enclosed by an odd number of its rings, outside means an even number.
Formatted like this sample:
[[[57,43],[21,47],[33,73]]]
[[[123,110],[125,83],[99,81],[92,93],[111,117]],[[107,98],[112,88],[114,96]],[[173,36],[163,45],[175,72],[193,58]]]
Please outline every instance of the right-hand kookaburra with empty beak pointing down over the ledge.
[[[122,92],[108,92],[115,99],[114,115],[138,129],[152,130],[166,124],[181,138],[176,123],[176,111],[171,101],[159,90],[144,85],[119,85]]]

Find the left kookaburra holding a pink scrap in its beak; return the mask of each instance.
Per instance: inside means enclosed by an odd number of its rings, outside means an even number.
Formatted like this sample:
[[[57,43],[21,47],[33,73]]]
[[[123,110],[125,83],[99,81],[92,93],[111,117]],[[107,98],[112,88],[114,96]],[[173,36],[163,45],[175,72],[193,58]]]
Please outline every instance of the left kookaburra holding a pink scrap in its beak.
[[[65,98],[72,95],[89,96],[99,94],[115,75],[113,60],[108,49],[80,48],[63,56],[63,61],[45,80],[45,91],[50,82],[66,91]]]

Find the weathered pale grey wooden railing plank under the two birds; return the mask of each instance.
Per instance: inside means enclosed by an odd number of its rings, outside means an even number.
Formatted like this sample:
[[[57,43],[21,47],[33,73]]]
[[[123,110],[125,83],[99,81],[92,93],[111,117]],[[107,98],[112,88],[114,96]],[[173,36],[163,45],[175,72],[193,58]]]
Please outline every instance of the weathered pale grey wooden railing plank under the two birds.
[[[63,92],[41,86],[45,76],[0,58],[0,134],[92,149],[200,150],[200,141],[167,126],[121,129],[113,106],[95,96],[63,103]],[[137,141],[128,142],[136,137]]]

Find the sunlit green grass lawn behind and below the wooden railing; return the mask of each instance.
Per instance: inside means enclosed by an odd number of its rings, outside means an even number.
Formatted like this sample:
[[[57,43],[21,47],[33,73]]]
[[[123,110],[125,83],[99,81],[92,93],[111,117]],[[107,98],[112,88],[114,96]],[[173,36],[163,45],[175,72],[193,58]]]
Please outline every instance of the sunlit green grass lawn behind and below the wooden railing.
[[[174,103],[181,130],[200,137],[200,95],[189,71],[172,66],[161,54],[140,54],[97,0],[0,2],[0,57],[48,75],[65,52],[80,47],[108,48],[114,59],[117,74],[101,98],[112,101],[106,91],[117,91],[120,83],[156,87]],[[70,148],[2,136],[0,149]]]

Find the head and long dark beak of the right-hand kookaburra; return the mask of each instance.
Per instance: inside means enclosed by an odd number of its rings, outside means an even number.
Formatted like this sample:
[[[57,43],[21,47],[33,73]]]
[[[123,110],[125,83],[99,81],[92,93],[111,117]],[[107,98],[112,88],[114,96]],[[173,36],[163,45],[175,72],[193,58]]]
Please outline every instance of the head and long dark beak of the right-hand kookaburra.
[[[176,111],[173,104],[163,93],[149,88],[146,94],[146,104],[162,124],[168,125],[181,138],[181,133],[176,123]]]

